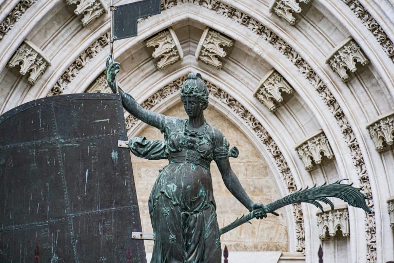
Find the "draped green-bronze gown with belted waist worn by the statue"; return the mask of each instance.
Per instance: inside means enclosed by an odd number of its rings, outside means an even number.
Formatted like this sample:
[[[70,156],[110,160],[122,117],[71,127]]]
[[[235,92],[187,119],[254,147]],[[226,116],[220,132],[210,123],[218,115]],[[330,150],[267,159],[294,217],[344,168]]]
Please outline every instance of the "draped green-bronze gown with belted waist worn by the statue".
[[[221,243],[213,198],[210,162],[237,157],[220,130],[205,123],[203,132],[188,129],[188,120],[160,115],[165,141],[130,140],[142,158],[168,159],[149,197],[155,237],[151,263],[219,263]]]

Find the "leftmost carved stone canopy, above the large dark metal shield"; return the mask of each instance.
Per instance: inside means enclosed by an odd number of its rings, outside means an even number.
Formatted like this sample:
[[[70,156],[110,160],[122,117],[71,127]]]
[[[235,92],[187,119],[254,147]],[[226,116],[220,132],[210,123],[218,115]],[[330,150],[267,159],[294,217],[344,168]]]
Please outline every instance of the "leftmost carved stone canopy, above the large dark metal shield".
[[[45,57],[44,52],[28,40],[25,40],[21,46],[18,47],[7,64],[10,68],[20,66],[21,69],[19,73],[21,73],[21,75],[29,73],[27,82],[30,85],[34,85],[38,78],[45,72],[47,66],[50,65],[51,63],[49,59]]]

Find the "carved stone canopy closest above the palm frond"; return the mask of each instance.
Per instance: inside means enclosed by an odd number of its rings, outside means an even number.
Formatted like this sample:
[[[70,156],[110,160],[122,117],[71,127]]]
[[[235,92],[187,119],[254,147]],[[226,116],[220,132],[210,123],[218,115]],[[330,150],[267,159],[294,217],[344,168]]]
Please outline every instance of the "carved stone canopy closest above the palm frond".
[[[315,170],[316,164],[322,162],[323,156],[326,156],[328,159],[334,159],[331,146],[322,130],[304,139],[295,146],[295,150],[303,161],[306,171]]]

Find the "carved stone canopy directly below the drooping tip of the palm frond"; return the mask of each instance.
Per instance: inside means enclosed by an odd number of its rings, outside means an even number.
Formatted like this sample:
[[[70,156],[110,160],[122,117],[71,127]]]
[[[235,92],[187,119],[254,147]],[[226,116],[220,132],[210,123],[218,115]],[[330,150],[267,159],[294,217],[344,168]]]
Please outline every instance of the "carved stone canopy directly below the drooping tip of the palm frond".
[[[350,235],[347,205],[335,206],[333,210],[331,208],[324,209],[324,213],[319,210],[316,215],[318,216],[319,238],[321,240],[334,237],[338,229],[342,231],[343,236],[348,237]]]

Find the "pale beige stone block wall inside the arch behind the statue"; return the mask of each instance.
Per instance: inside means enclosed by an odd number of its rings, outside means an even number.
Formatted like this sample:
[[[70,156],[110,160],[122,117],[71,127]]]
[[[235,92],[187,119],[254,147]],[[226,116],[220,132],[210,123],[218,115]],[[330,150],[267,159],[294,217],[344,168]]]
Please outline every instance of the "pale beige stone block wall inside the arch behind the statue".
[[[182,104],[164,112],[167,116],[187,118]],[[225,116],[208,106],[205,111],[206,120],[212,126],[219,128],[230,147],[237,146],[240,150],[238,158],[230,158],[233,171],[239,177],[244,189],[255,202],[268,203],[280,198],[279,190],[275,185],[274,178],[268,169],[266,161],[260,156],[250,140],[241,130],[230,123]],[[163,140],[160,131],[153,127],[146,127],[139,136],[145,136],[149,140]],[[140,205],[142,228],[144,232],[152,232],[148,212],[148,198],[152,185],[159,175],[159,170],[168,164],[166,160],[150,161],[132,156],[133,170],[137,197]],[[218,209],[219,227],[231,223],[237,217],[248,213],[248,210],[235,199],[226,189],[218,168],[211,163],[211,173],[214,189],[214,197]],[[252,220],[252,224],[244,224],[234,229],[221,238],[222,247],[227,245],[230,251],[287,251],[288,236],[287,226],[283,211],[280,216],[269,215],[264,220]],[[146,252],[152,252],[153,241],[145,241]]]

